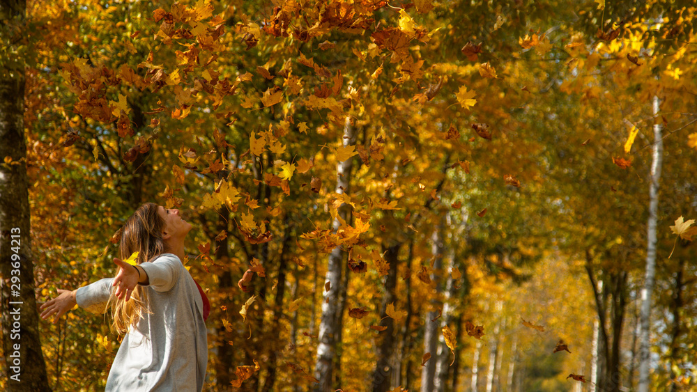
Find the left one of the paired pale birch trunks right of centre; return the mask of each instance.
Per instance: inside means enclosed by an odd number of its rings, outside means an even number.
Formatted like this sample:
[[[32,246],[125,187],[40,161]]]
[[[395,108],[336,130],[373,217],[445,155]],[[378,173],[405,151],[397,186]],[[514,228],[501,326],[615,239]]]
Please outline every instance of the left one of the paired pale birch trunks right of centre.
[[[438,361],[438,325],[440,324],[438,320],[434,320],[438,316],[438,312],[435,311],[440,306],[440,301],[438,301],[438,296],[441,295],[443,291],[441,285],[441,269],[443,268],[443,222],[438,224],[435,228],[432,236],[433,245],[431,246],[431,253],[434,255],[434,265],[433,272],[431,273],[431,281],[436,284],[436,294],[434,298],[431,299],[431,308],[434,309],[429,311],[426,315],[425,333],[424,333],[424,354],[431,353],[431,359],[423,366],[421,370],[421,390],[422,391],[433,391],[434,390],[434,378],[436,377],[436,362]]]

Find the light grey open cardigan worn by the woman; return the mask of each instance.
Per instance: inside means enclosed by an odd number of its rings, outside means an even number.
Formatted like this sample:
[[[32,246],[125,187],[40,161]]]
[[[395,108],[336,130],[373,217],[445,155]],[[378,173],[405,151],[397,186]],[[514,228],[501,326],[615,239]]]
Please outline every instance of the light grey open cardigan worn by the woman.
[[[109,370],[106,391],[201,391],[208,362],[203,300],[191,275],[173,254],[140,265],[149,313],[128,331]],[[114,279],[77,289],[81,308],[109,299]]]

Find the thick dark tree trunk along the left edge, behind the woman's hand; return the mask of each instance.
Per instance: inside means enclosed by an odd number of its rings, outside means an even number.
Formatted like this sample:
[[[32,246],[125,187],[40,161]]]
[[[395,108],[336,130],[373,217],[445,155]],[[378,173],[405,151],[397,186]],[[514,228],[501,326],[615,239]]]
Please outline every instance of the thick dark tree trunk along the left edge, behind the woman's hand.
[[[26,2],[0,6],[3,29],[24,31]],[[13,51],[10,51],[13,52]],[[7,391],[50,391],[41,351],[34,297],[29,180],[24,140],[24,63],[3,60],[0,68],[0,300]]]

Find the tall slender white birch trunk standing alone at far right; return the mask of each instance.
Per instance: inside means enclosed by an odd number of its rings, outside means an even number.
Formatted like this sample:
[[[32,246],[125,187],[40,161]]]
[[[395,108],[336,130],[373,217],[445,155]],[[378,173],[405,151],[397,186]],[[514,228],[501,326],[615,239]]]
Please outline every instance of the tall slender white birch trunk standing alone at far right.
[[[659,100],[653,98],[654,116],[659,111]],[[646,274],[644,288],[641,290],[641,345],[639,346],[639,385],[638,392],[649,392],[650,386],[650,336],[651,336],[651,296],[653,295],[656,275],[656,226],[658,221],[658,186],[661,179],[661,164],[663,164],[663,136],[661,124],[654,118],[654,145],[652,148],[651,182],[649,185],[649,221],[646,244]]]

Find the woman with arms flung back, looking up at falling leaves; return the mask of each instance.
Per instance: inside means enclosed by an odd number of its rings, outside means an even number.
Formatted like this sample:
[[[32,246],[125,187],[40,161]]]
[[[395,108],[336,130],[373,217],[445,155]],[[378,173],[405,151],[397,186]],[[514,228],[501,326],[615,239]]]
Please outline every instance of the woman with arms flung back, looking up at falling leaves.
[[[58,297],[41,306],[41,317],[53,315],[55,323],[75,304],[109,304],[114,327],[125,336],[109,371],[107,391],[203,389],[208,299],[181,262],[189,230],[178,210],[142,205],[121,229],[119,249],[121,259],[139,252],[137,265],[114,258],[119,267],[114,278],[58,290]],[[240,281],[240,287],[247,281]]]

